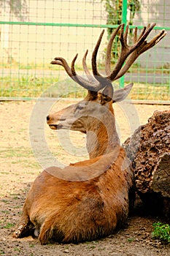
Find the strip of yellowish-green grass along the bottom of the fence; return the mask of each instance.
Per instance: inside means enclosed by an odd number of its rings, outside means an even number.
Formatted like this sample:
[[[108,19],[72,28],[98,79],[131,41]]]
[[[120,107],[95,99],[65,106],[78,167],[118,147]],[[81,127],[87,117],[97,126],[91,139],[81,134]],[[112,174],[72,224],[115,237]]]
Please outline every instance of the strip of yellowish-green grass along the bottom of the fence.
[[[136,66],[134,66],[133,70],[134,72],[138,72]],[[158,70],[158,74],[161,72],[162,69]],[[41,97],[43,94],[44,97],[83,98],[87,94],[87,90],[81,89],[79,85],[69,78],[60,80],[60,83],[58,83],[58,78],[33,78],[31,76],[13,76],[11,78],[7,76],[5,78],[0,77],[0,83],[0,97],[29,98]],[[127,80],[125,83],[130,83],[130,81]],[[114,86],[115,89],[119,88],[118,83],[114,83]],[[169,94],[169,84],[160,85],[136,82],[136,86],[131,91],[130,97],[131,99],[169,100]],[[12,151],[6,151],[6,153],[9,155],[12,154]]]

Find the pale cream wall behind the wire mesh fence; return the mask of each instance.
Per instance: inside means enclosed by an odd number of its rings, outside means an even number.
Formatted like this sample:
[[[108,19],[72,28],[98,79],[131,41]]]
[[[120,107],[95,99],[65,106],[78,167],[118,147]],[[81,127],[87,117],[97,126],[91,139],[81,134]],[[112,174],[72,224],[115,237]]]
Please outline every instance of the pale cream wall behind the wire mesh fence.
[[[150,4],[150,5],[149,5]],[[169,0],[141,0],[141,11],[135,15],[134,25],[147,25],[156,22],[157,26],[169,26]],[[3,9],[6,20],[18,21],[15,16],[9,17],[9,9]],[[58,1],[28,1],[28,13],[25,21],[38,23],[78,23],[78,24],[106,24],[107,16],[100,0],[58,0]],[[68,26],[21,26],[1,25],[1,59],[4,62],[11,58],[21,63],[50,63],[55,56],[63,56],[69,61],[76,53],[80,53],[77,62],[82,61],[85,50],[89,49],[88,62],[93,47],[101,32],[101,28],[81,28]],[[158,31],[153,31],[152,36]],[[107,31],[103,45],[107,41]],[[150,64],[158,61],[169,61],[169,35],[153,50],[148,58]],[[157,59],[155,61],[155,56]],[[143,61],[146,56],[143,56]],[[146,62],[144,62],[146,65]]]

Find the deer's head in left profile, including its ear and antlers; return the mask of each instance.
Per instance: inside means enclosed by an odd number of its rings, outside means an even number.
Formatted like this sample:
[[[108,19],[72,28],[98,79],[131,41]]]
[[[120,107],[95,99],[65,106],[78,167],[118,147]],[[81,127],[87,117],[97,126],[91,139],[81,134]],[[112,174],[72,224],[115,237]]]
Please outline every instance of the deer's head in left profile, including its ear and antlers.
[[[72,80],[88,90],[88,95],[87,97],[85,97],[85,99],[78,102],[77,104],[71,105],[68,108],[64,108],[57,113],[53,113],[47,116],[47,124],[49,124],[50,128],[72,129],[85,133],[93,131],[97,133],[99,129],[97,128],[96,131],[96,127],[100,127],[99,123],[102,123],[104,124],[103,126],[101,125],[102,130],[104,130],[104,127],[107,127],[107,132],[103,132],[103,134],[107,134],[107,143],[111,143],[112,145],[115,143],[119,143],[119,139],[115,129],[115,117],[112,103],[119,102],[125,99],[128,93],[131,91],[133,83],[128,84],[128,86],[125,86],[125,88],[123,89],[118,89],[117,91],[114,91],[112,87],[112,82],[122,77],[140,54],[152,48],[166,35],[166,32],[163,30],[158,35],[153,37],[150,42],[147,42],[146,38],[150,34],[154,26],[155,24],[144,27],[139,37],[137,37],[136,28],[134,30],[134,45],[131,46],[129,46],[127,42],[128,26],[126,26],[126,29],[124,29],[124,24],[122,24],[118,26],[117,29],[115,29],[107,45],[105,76],[101,75],[98,72],[96,64],[98,48],[101,44],[104,30],[101,32],[101,35],[98,39],[98,42],[96,43],[92,54],[91,63],[93,75],[90,74],[90,71],[86,64],[86,56],[88,54],[88,50],[85,52],[85,56],[82,59],[82,66],[85,71],[86,78],[77,75],[77,72],[74,69],[77,55],[72,60],[71,67],[69,67],[69,64],[66,62],[65,59],[61,57],[56,57],[55,60],[51,62],[51,64],[58,64],[64,67],[67,74],[72,78]],[[111,70],[112,42],[118,33],[120,33],[119,38],[121,43],[121,51],[115,68]],[[108,138],[110,139],[108,140]],[[89,141],[90,140],[91,138],[89,138]],[[102,143],[104,143],[103,140]],[[96,157],[96,154],[93,154],[93,157]]]

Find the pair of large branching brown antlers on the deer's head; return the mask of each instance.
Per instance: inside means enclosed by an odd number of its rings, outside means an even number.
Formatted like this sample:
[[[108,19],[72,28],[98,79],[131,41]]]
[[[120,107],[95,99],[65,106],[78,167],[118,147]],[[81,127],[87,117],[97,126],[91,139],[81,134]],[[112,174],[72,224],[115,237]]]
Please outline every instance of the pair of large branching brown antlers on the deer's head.
[[[128,71],[128,69],[131,67],[131,64],[134,63],[134,61],[139,57],[140,54],[144,53],[146,50],[149,50],[154,45],[156,45],[163,37],[166,36],[166,31],[163,29],[159,34],[157,34],[155,37],[153,37],[150,42],[146,41],[147,36],[150,34],[152,29],[154,28],[155,23],[153,23],[151,26],[150,24],[147,27],[144,27],[142,30],[142,33],[137,38],[137,28],[134,30],[134,45],[129,46],[127,43],[127,37],[128,37],[128,26],[126,26],[126,29],[124,31],[125,24],[122,24],[120,26],[117,26],[117,29],[112,33],[112,36],[109,39],[109,43],[107,45],[107,56],[106,56],[106,65],[105,65],[105,71],[106,71],[106,77],[102,76],[97,69],[96,64],[96,57],[98,53],[98,48],[101,44],[101,39],[104,34],[104,30],[101,32],[100,37],[98,38],[98,42],[96,43],[96,46],[93,50],[92,54],[92,71],[93,76],[90,75],[90,72],[88,70],[87,64],[86,64],[86,56],[88,54],[88,50],[85,52],[85,56],[82,59],[82,66],[85,71],[85,74],[87,75],[88,79],[85,79],[84,77],[77,75],[77,72],[75,71],[74,64],[77,59],[78,54],[74,57],[72,60],[71,67],[69,67],[69,64],[66,62],[65,59],[61,57],[56,57],[55,61],[51,61],[51,64],[58,64],[64,67],[67,74],[76,82],[79,83],[80,86],[84,87],[85,89],[88,89],[89,91],[99,91],[103,89],[107,84],[111,83],[114,80],[117,80],[121,76],[125,74],[125,72]],[[111,51],[112,51],[112,42],[115,39],[118,31],[120,30],[120,43],[121,43],[121,51],[120,56],[117,60],[117,64],[115,66],[115,69],[111,71]],[[125,62],[125,60],[127,61]],[[125,62],[125,65],[123,66]]]

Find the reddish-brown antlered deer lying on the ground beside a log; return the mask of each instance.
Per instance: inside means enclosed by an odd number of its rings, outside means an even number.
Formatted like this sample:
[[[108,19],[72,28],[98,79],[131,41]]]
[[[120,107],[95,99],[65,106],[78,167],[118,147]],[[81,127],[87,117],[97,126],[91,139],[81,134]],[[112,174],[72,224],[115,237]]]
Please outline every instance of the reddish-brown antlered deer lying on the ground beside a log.
[[[52,166],[36,177],[28,192],[23,214],[14,238],[34,236],[40,244],[49,241],[80,243],[113,234],[127,223],[134,205],[134,173],[120,145],[115,126],[114,102],[120,102],[133,83],[114,91],[112,82],[122,77],[140,54],[156,45],[166,35],[162,30],[150,42],[147,36],[155,24],[148,25],[128,45],[128,26],[117,26],[109,39],[105,71],[97,68],[97,53],[104,30],[92,53],[92,72],[86,56],[82,59],[85,77],[75,71],[77,55],[71,66],[63,57],[51,64],[61,65],[72,80],[87,89],[87,96],[69,107],[47,116],[50,129],[71,129],[85,133],[89,159],[66,167]],[[121,50],[115,68],[111,68],[112,43],[119,34]]]

